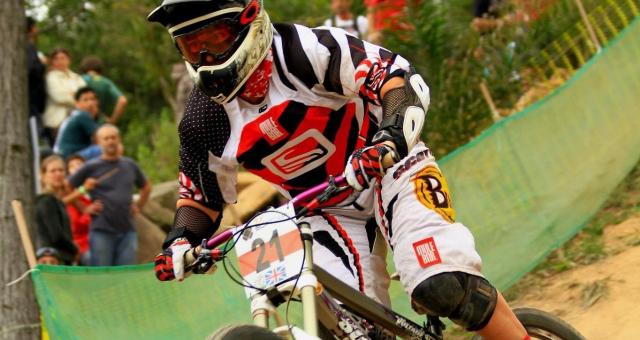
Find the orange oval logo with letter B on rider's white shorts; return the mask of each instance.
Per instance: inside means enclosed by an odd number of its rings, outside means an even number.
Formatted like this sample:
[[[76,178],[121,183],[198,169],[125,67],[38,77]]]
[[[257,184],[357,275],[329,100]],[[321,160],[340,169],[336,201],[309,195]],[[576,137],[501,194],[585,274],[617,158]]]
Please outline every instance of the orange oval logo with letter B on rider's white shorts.
[[[428,165],[413,177],[416,196],[422,205],[438,213],[447,222],[453,223],[456,212],[451,207],[449,186],[440,170]]]

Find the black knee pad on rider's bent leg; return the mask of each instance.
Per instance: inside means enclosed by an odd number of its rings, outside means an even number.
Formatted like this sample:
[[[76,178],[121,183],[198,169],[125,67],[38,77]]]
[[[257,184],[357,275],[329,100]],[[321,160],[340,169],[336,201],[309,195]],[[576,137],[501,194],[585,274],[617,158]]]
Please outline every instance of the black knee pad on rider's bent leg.
[[[484,328],[496,308],[498,292],[486,279],[448,272],[422,281],[411,299],[428,314],[447,317],[469,331]]]

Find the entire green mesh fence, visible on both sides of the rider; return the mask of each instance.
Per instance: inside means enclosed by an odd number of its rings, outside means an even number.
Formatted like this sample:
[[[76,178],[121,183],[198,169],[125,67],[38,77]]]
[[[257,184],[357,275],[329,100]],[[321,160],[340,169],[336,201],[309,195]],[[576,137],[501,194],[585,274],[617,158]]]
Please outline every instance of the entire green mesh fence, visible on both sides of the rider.
[[[505,288],[580,230],[638,158],[636,19],[563,87],[440,164],[486,275]],[[242,288],[222,271],[160,283],[151,265],[45,266],[33,280],[53,339],[201,339],[250,321]],[[391,293],[411,314],[397,284]]]

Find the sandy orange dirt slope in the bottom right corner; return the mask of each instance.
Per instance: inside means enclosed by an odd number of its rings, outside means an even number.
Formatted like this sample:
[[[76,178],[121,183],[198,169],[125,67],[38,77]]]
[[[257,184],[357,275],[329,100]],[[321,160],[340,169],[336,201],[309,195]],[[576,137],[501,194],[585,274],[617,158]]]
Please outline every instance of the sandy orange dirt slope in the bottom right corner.
[[[587,339],[639,339],[640,217],[605,229],[607,258],[538,281],[511,304],[537,307]]]

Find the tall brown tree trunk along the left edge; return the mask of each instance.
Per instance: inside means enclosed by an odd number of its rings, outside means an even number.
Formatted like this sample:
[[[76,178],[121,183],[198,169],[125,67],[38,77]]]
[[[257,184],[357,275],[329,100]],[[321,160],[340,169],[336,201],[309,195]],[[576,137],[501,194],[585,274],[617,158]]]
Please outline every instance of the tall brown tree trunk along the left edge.
[[[33,233],[31,148],[27,123],[26,29],[23,0],[0,0],[0,339],[37,339],[38,309],[11,201],[22,200]]]

